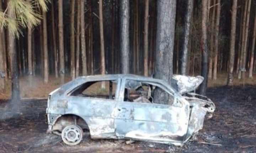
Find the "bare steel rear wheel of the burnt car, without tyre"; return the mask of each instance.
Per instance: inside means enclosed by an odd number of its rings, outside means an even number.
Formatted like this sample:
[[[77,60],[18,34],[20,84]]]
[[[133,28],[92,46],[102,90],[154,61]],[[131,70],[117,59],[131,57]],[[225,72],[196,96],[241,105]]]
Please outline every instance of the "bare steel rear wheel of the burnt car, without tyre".
[[[78,125],[68,125],[62,130],[62,140],[67,145],[78,145],[82,137],[83,130]]]

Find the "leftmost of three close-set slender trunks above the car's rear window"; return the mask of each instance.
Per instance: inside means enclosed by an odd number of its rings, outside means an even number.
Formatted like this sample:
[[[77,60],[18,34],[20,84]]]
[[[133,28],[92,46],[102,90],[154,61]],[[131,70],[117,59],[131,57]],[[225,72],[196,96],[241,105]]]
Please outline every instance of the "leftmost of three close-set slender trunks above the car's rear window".
[[[70,70],[71,78],[75,79],[75,0],[70,0]]]

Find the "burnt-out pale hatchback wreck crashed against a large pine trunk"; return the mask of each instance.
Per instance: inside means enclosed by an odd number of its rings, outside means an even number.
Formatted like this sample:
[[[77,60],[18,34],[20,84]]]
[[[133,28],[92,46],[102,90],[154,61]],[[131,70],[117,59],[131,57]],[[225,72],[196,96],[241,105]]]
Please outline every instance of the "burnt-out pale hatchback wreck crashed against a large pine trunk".
[[[47,132],[77,145],[92,139],[127,139],[181,146],[202,129],[214,103],[193,91],[203,77],[174,75],[165,81],[132,74],[78,77],[48,96]],[[166,94],[162,104],[154,90]],[[166,102],[165,102],[166,103]]]

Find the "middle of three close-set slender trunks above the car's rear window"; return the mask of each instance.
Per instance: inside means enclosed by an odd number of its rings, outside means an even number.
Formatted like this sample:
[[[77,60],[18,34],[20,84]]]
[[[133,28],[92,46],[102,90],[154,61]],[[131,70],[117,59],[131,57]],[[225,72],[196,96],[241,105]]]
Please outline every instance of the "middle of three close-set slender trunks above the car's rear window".
[[[78,0],[78,11],[76,17],[76,77],[79,76],[79,58],[80,58],[80,1]]]

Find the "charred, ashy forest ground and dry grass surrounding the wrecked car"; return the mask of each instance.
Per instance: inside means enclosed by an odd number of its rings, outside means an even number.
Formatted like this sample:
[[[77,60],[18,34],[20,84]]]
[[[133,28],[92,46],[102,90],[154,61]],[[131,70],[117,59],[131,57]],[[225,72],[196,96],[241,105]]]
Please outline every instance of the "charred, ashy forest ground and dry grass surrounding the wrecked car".
[[[219,75],[219,77],[224,74]],[[256,76],[254,76],[256,77]],[[22,98],[46,98],[58,87],[58,80],[50,78],[44,84],[34,78],[27,87],[26,78],[20,79]],[[68,79],[67,79],[68,81]],[[48,153],[48,152],[97,152],[97,153],[255,153],[256,152],[256,81],[246,80],[245,86],[224,86],[226,79],[209,82],[207,96],[215,103],[211,119],[204,121],[197,139],[183,147],[135,141],[126,145],[123,140],[91,140],[84,138],[77,146],[65,145],[60,136],[46,134],[44,114],[47,100],[22,100],[18,106],[21,113],[11,113],[9,119],[0,117],[0,153]],[[235,85],[242,83],[235,80]],[[1,93],[0,112],[6,111],[10,94]]]

